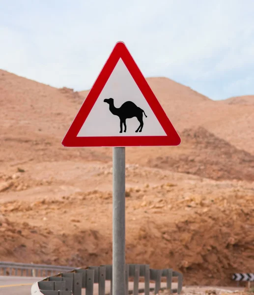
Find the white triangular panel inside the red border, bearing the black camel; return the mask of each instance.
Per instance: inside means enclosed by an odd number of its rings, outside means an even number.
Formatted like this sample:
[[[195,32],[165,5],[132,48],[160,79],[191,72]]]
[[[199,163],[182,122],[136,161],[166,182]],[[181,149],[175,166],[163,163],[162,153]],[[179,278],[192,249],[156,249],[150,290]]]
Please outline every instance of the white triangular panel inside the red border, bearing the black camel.
[[[77,135],[102,136],[167,136],[121,58]]]

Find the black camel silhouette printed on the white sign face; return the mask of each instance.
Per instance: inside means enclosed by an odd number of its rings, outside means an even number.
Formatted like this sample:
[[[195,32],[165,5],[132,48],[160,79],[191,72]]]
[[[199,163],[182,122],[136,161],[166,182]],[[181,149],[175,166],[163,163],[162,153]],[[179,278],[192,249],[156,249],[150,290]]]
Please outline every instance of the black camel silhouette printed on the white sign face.
[[[126,101],[120,106],[120,108],[116,108],[114,106],[113,98],[106,98],[106,99],[104,99],[104,102],[109,104],[111,113],[113,115],[119,117],[119,119],[120,119],[120,133],[126,132],[126,119],[133,118],[133,117],[136,117],[140,122],[140,125],[135,132],[142,131],[142,128],[144,125],[143,113],[146,118],[147,118],[147,116],[145,115],[145,112],[141,108],[137,107],[134,102]],[[123,130],[123,125],[124,125],[124,130]]]

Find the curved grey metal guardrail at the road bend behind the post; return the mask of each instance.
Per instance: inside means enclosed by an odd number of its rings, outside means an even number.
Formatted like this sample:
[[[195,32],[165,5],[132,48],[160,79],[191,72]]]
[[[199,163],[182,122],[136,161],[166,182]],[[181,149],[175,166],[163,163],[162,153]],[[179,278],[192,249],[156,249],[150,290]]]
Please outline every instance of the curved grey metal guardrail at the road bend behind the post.
[[[31,287],[31,295],[82,295],[85,288],[86,295],[93,295],[94,284],[98,284],[98,295],[112,295],[112,265],[89,266],[87,268],[73,269],[72,271],[58,273],[42,281],[36,282]],[[129,278],[133,278],[133,290],[129,290]],[[162,278],[166,278],[167,288],[161,288]],[[177,289],[172,290],[172,278],[178,278]],[[140,278],[143,278],[144,288],[139,289]],[[180,294],[183,286],[183,275],[172,269],[151,269],[149,265],[126,265],[125,294],[149,295],[151,291],[158,294],[161,289],[169,289],[170,293]],[[106,294],[105,282],[110,281],[110,292]],[[150,281],[155,282],[155,288],[150,288]]]

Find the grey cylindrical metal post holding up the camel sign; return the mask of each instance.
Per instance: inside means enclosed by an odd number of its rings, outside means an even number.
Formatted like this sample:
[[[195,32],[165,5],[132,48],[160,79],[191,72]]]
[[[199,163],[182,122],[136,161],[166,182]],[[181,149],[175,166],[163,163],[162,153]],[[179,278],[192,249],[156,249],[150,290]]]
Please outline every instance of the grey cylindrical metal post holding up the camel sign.
[[[125,295],[125,148],[113,148],[113,295]]]

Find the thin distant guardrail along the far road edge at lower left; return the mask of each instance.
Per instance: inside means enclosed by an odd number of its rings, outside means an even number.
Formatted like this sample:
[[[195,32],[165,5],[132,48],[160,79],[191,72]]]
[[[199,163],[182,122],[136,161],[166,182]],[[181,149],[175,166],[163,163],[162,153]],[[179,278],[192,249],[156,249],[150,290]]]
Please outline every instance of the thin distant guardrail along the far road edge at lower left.
[[[72,269],[73,267],[69,266],[50,266],[14,262],[0,262],[0,275],[47,277],[48,275],[55,275],[60,271],[68,271]]]

